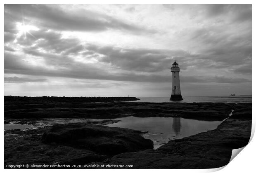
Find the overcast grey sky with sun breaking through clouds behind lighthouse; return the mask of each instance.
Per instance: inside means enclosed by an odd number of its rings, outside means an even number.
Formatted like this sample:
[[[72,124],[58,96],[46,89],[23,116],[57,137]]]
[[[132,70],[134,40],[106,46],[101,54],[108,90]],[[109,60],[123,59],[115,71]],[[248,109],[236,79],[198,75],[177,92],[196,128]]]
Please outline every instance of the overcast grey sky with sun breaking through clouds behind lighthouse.
[[[5,95],[251,94],[251,5],[5,5]]]

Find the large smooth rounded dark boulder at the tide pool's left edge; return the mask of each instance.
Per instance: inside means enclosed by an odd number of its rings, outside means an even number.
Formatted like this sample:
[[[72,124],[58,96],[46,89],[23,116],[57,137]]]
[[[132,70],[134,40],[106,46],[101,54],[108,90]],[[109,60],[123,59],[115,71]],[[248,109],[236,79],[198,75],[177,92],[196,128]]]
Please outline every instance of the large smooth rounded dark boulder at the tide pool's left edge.
[[[140,131],[87,123],[54,124],[50,131],[43,134],[42,142],[81,148],[104,155],[153,148],[152,140],[140,136]]]

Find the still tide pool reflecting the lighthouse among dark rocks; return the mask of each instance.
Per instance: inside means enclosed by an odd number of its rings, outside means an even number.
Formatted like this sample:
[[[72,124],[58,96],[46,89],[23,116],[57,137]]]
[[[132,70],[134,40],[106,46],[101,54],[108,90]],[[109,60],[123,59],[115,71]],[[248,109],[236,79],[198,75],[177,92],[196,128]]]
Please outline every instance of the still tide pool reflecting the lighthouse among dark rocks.
[[[221,121],[199,121],[177,117],[124,117],[120,122],[107,124],[109,127],[122,127],[139,131],[148,131],[142,136],[154,142],[154,149],[168,143],[197,133],[216,129]]]

